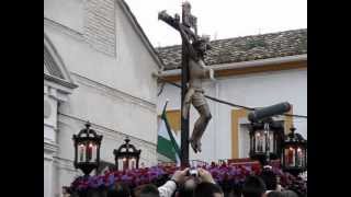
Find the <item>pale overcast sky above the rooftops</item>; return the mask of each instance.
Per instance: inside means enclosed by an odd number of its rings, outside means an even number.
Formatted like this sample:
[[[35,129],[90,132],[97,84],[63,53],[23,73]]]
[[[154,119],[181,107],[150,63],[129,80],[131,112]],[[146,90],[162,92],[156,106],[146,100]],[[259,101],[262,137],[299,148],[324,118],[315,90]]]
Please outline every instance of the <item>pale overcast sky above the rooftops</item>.
[[[154,47],[180,45],[158,12],[181,15],[184,0],[125,0]],[[307,0],[189,0],[199,35],[211,39],[307,28]]]

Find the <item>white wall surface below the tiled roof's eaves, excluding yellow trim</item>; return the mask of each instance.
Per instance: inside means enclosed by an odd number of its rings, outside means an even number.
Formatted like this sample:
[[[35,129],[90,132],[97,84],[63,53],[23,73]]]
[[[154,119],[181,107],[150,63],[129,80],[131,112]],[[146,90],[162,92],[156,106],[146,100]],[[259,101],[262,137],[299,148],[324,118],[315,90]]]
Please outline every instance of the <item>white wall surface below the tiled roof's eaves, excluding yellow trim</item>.
[[[294,114],[307,115],[307,71],[294,69],[254,74],[233,76],[217,79],[204,84],[205,94],[245,106],[269,106],[280,102],[293,104]],[[158,113],[169,99],[168,109],[180,109],[180,89],[167,84],[158,100]],[[228,105],[207,100],[213,119],[203,136],[203,152],[190,159],[216,161],[231,158],[231,109]],[[191,109],[190,129],[197,118],[196,111]],[[296,131],[307,138],[307,119],[295,118]],[[240,134],[239,134],[240,135]],[[240,139],[240,137],[239,137]],[[248,141],[249,142],[249,141]],[[244,143],[244,142],[241,142]],[[240,152],[240,151],[239,151]]]

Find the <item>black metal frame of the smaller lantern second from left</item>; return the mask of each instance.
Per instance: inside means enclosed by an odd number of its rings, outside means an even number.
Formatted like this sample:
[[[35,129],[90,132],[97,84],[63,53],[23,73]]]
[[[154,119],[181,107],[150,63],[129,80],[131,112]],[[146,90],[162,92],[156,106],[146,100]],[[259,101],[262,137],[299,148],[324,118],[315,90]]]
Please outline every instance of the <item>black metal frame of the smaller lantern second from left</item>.
[[[129,169],[129,160],[135,159],[135,167],[139,169],[139,160],[141,150],[137,150],[134,144],[129,143],[129,138],[125,138],[125,143],[123,143],[118,149],[113,150],[114,160],[115,160],[115,167],[118,170],[118,160],[125,160],[126,167],[123,166],[123,170]]]

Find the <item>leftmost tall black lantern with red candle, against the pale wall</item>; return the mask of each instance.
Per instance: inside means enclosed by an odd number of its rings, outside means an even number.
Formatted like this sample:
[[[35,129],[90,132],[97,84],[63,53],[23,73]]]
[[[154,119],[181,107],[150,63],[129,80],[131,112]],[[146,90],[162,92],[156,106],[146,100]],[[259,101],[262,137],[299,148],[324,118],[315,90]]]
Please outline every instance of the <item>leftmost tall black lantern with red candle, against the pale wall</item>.
[[[75,142],[75,167],[80,169],[89,176],[93,169],[100,163],[100,146],[102,136],[90,128],[90,123],[78,135],[73,135]]]

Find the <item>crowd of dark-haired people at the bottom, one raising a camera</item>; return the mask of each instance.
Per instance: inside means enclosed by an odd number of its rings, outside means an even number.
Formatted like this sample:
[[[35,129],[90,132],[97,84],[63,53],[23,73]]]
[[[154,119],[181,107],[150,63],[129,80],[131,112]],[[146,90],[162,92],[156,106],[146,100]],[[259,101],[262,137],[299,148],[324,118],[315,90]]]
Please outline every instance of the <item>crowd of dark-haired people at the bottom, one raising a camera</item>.
[[[194,173],[195,172],[195,173]],[[268,170],[246,178],[241,188],[223,190],[211,173],[204,169],[176,171],[172,177],[157,187],[140,185],[134,189],[116,183],[107,190],[107,197],[299,197],[295,192],[284,189],[278,176]]]

